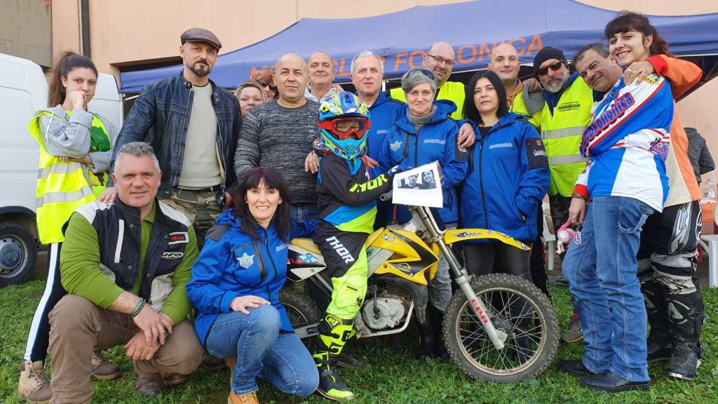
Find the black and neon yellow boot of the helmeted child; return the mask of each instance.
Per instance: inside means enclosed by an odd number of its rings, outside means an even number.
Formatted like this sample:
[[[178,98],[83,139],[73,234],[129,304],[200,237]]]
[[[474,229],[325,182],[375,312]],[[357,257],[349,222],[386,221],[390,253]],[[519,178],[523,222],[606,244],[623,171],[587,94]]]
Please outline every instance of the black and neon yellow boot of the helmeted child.
[[[338,357],[344,344],[354,335],[353,321],[342,320],[325,314],[319,323],[319,339],[314,351],[314,363],[319,371],[317,392],[325,398],[337,401],[354,399],[354,393],[342,382],[337,374]]]

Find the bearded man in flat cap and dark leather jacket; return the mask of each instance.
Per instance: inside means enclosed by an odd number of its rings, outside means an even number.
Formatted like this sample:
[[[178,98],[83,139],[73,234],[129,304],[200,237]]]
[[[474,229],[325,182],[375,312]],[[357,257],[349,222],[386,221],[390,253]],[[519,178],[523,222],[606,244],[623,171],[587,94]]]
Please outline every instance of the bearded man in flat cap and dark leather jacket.
[[[201,247],[228,202],[225,189],[236,182],[233,162],[242,122],[237,99],[210,80],[220,40],[203,28],[187,29],[180,40],[182,73],[142,88],[114,149],[145,139],[151,143],[163,173],[157,196],[187,215]],[[116,192],[108,187],[99,200],[111,203]]]

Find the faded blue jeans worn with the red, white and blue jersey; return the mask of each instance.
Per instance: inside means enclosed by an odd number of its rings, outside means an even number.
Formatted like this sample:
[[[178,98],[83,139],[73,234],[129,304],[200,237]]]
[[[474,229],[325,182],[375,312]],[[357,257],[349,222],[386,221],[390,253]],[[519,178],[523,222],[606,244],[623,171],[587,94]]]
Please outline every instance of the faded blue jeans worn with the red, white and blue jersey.
[[[583,327],[583,364],[592,373],[609,370],[631,382],[648,381],[645,303],[635,256],[651,214],[638,199],[593,198],[581,244],[572,243],[564,258],[561,270]]]

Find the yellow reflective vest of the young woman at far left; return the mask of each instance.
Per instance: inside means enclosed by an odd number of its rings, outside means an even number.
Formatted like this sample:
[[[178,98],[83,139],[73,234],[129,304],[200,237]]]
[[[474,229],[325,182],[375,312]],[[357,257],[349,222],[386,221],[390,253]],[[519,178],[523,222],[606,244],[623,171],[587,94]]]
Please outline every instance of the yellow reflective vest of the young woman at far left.
[[[35,188],[37,233],[42,244],[60,243],[65,240],[62,226],[70,219],[75,209],[94,201],[104,190],[107,174],[99,176],[91,172],[88,165],[81,162],[61,162],[59,157],[51,155],[45,149],[47,131],[40,129],[40,117],[50,115],[53,119],[64,118],[49,111],[41,111],[29,124],[32,137],[40,147],[37,188]],[[107,129],[101,119],[93,114],[93,127],[101,127],[109,140]],[[106,151],[106,150],[103,150]],[[104,179],[104,181],[103,181]]]

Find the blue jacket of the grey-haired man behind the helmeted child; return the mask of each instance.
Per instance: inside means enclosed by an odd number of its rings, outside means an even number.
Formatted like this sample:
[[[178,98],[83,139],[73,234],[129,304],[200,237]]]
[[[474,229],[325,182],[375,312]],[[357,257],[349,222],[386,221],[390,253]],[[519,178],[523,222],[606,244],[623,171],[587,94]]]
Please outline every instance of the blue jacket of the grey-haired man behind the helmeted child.
[[[396,121],[406,116],[406,104],[391,98],[388,93],[381,91],[374,104],[369,107],[369,116],[371,118],[371,128],[366,133],[368,136],[367,154],[378,161],[381,145],[384,143],[384,137],[386,137],[387,132]]]

